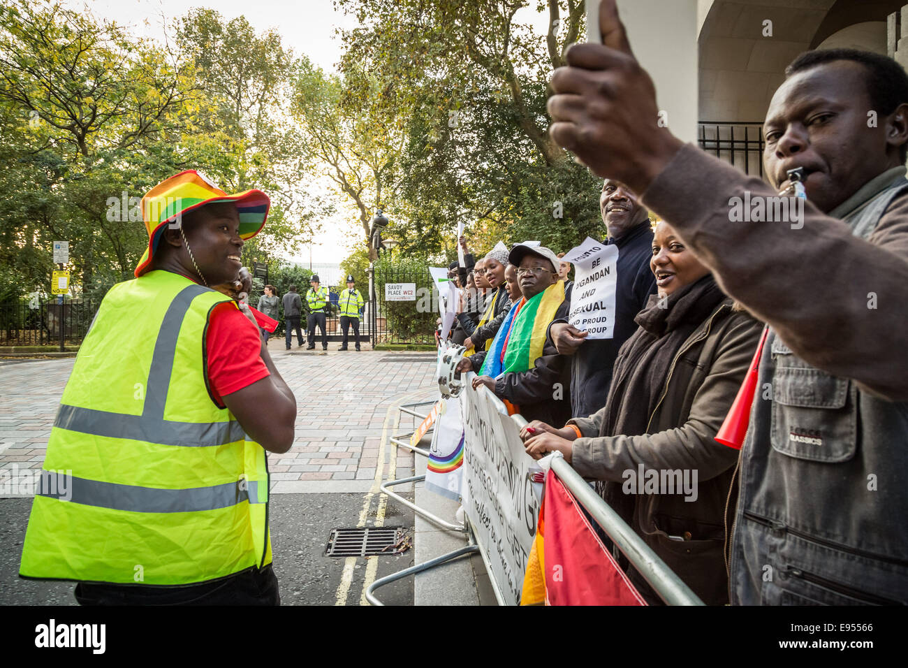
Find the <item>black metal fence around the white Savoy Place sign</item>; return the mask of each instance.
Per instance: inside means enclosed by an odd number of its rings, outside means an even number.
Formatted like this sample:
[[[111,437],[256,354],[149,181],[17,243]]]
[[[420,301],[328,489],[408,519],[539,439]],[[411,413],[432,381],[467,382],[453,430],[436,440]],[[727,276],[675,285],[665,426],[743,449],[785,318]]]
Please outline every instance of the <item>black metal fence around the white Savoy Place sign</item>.
[[[374,294],[370,299],[366,323],[372,344],[435,344],[436,320],[439,317],[438,291],[429,275],[429,265],[416,259],[398,259],[393,263],[380,258],[373,271]],[[407,299],[388,298],[393,286],[407,285]]]

